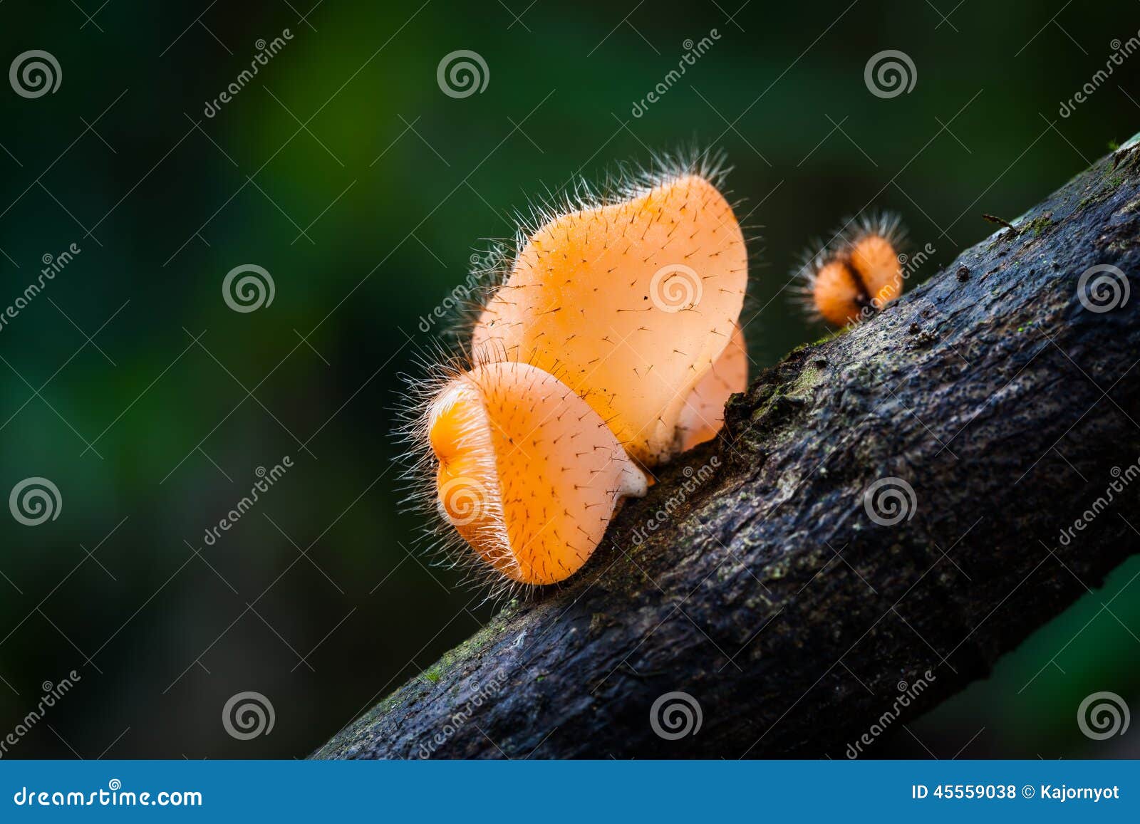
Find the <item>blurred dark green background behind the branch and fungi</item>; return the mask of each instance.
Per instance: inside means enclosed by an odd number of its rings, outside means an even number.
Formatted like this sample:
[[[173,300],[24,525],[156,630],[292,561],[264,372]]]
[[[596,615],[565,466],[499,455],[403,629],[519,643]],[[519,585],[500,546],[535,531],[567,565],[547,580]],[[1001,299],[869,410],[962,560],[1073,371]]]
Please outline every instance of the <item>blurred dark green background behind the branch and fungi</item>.
[[[42,682],[81,676],[6,757],[302,757],[487,620],[414,550],[390,432],[399,374],[435,334],[421,318],[528,197],[723,148],[763,236],[758,368],[820,336],[784,287],[841,217],[898,211],[937,250],[921,280],[991,232],[980,213],[1016,218],[1140,130],[1140,56],[1058,115],[1137,35],[1131,1],[528,2],[0,5],[3,65],[42,49],[63,74],[35,99],[0,85],[0,305],[81,248],[0,331],[0,489],[44,476],[63,498],[39,527],[0,519],[0,736]],[[489,72],[462,99],[437,83],[458,49]],[[912,58],[909,93],[864,84],[885,49]],[[250,313],[221,295],[243,263],[276,286]],[[1140,697],[1138,572],[877,754],[1140,753],[1075,723],[1091,692]],[[271,700],[271,734],[223,729],[243,691]]]

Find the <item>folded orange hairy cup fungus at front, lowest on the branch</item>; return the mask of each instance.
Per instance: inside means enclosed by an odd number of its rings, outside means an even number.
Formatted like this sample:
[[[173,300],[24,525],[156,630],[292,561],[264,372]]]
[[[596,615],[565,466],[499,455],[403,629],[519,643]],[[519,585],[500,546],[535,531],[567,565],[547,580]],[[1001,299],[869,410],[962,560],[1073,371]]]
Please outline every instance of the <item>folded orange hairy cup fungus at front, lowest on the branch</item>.
[[[467,544],[521,584],[556,584],[602,540],[646,478],[605,422],[529,364],[479,366],[427,409],[438,505]]]

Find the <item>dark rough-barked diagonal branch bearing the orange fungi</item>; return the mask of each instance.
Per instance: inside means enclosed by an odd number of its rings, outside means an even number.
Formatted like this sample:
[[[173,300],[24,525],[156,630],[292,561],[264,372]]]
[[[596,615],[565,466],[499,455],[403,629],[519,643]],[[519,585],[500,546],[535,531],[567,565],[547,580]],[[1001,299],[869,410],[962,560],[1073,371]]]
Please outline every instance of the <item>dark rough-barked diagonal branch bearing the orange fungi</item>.
[[[1140,147],[757,376],[583,572],[316,757],[841,757],[901,682],[905,721],[986,676],[1140,542],[1140,482],[1060,538],[1140,457],[1140,296],[1085,308],[1097,264],[1140,270]],[[669,740],[674,691],[702,723]]]

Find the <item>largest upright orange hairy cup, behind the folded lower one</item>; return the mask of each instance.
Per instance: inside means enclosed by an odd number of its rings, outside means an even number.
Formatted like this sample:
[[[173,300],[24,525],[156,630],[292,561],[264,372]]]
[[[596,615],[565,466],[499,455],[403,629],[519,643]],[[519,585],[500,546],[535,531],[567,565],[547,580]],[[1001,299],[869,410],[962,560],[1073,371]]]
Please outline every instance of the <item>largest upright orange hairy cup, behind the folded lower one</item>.
[[[477,359],[556,373],[632,457],[668,460],[690,394],[728,345],[744,238],[706,177],[554,217],[519,250],[475,324]]]

